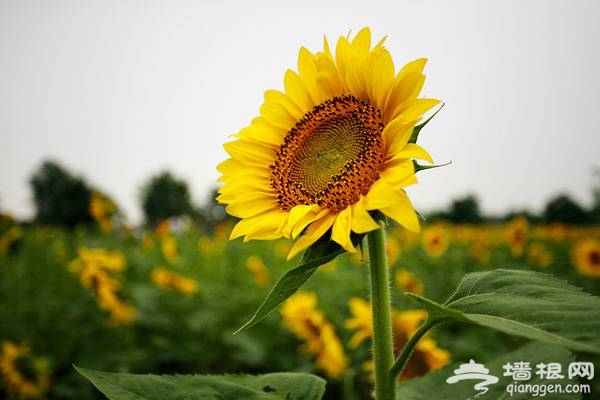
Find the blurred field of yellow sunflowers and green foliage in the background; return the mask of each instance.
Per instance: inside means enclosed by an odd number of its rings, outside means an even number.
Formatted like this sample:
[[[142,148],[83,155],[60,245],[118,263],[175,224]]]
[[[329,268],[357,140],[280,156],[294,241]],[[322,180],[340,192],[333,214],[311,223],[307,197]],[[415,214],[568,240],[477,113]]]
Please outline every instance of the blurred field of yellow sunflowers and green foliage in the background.
[[[327,380],[325,398],[369,398],[365,255],[323,265],[276,312],[234,334],[291,268],[285,261],[291,244],[229,241],[231,229],[228,222],[202,229],[167,220],[147,230],[100,221],[63,230],[3,215],[0,397],[103,398],[75,365],[155,374],[309,372]],[[391,227],[387,255],[395,348],[425,317],[404,293],[444,301],[469,272],[547,272],[600,294],[594,226],[531,225],[518,217],[502,224],[438,222],[420,234]],[[402,380],[451,362],[492,360],[525,342],[472,324],[436,328],[419,342]],[[600,385],[592,389],[584,398],[600,396]]]

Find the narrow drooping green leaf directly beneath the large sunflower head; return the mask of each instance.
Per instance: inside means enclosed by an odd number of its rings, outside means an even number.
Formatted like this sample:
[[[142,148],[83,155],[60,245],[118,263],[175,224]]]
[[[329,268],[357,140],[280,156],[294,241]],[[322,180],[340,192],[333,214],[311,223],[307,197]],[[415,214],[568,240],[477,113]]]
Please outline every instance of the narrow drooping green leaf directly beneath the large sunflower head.
[[[361,243],[363,236],[364,235],[352,234],[352,243],[357,246]],[[325,239],[325,237],[327,237],[327,235],[306,249],[300,265],[286,272],[285,275],[275,283],[275,286],[273,286],[267,295],[267,298],[258,307],[252,318],[235,331],[234,334],[258,323],[306,283],[319,266],[326,264],[340,254],[345,253],[345,250],[342,247],[329,239]]]

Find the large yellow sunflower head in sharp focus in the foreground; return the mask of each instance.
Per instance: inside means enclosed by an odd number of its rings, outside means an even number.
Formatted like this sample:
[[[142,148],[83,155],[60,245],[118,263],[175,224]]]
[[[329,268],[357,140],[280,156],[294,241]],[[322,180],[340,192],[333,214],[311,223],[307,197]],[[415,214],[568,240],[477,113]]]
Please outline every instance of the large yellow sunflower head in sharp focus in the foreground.
[[[412,159],[432,160],[409,139],[439,101],[417,98],[426,60],[396,74],[383,42],[371,48],[364,28],[335,54],[326,39],[316,54],[301,48],[285,90],[266,91],[260,116],[225,144],[218,200],[241,219],[232,239],[297,239],[289,259],[329,231],[355,251],[350,233],[377,229],[373,210],[419,230],[403,188],[416,182]]]

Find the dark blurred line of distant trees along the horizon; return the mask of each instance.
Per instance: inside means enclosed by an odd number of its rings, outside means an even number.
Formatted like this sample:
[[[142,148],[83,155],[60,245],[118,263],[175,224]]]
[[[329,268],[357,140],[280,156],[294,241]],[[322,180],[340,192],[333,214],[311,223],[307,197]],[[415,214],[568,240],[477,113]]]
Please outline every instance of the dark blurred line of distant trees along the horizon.
[[[30,180],[35,206],[35,223],[72,228],[93,223],[90,215],[92,193],[99,192],[82,176],[74,175],[56,161],[44,161]],[[147,225],[154,226],[171,217],[189,217],[201,225],[214,225],[227,218],[216,200],[213,189],[201,206],[194,205],[188,184],[181,178],[162,171],[144,182],[139,191],[139,203]],[[103,194],[109,198],[106,194]],[[600,223],[600,185],[593,189],[593,204],[586,208],[568,194],[550,199],[541,213],[529,210],[512,211],[500,216],[483,215],[475,195],[451,201],[447,209],[426,215],[428,221],[446,220],[454,223],[485,223],[508,220],[524,215],[537,223],[598,224]]]

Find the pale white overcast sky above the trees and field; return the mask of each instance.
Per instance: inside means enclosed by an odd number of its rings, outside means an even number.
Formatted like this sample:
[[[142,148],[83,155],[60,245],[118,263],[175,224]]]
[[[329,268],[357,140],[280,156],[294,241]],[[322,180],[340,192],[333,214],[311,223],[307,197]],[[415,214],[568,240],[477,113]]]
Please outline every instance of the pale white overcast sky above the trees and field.
[[[222,144],[283,86],[300,46],[388,35],[397,66],[427,57],[446,106],[420,143],[418,209],[476,193],[487,212],[590,202],[600,165],[600,2],[0,0],[0,208],[32,213],[45,158],[139,218],[140,185],[169,169],[197,202]]]

